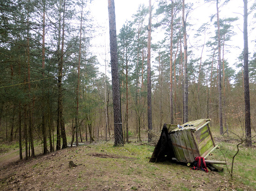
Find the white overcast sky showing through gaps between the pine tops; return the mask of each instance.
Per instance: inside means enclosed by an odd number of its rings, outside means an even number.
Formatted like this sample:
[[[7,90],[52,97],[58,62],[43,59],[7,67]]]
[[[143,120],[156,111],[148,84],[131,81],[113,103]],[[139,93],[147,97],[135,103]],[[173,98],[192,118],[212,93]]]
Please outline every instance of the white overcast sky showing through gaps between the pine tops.
[[[157,7],[157,2],[155,0],[152,1],[152,6]],[[204,3],[204,0],[185,0],[186,2],[193,2],[196,4],[196,9],[189,13],[188,21],[190,24],[193,25],[193,28],[196,30],[197,28],[195,26],[200,26],[205,22],[209,22],[209,16],[211,14],[216,13],[216,4],[209,4]],[[253,1],[249,2],[248,7],[250,7],[250,4]],[[122,25],[125,23],[126,20],[130,20],[131,16],[136,13],[138,7],[140,4],[145,4],[148,6],[148,0],[115,0],[115,17],[116,17],[116,29],[117,34],[119,33]],[[109,31],[108,31],[108,0],[93,0],[91,5],[91,13],[93,14],[93,17],[96,21],[95,25],[101,25],[103,27],[103,35],[97,37],[93,40],[93,44],[97,46],[97,49],[94,49],[96,53],[98,54],[98,59],[100,63],[103,65],[103,57],[105,48],[99,48],[100,46],[107,46],[106,50],[109,50]],[[154,11],[153,11],[154,12]],[[240,13],[240,14],[239,14]],[[236,57],[239,56],[241,51],[243,50],[243,0],[230,0],[229,4],[227,6],[220,8],[220,18],[228,18],[228,17],[238,17],[239,21],[236,22],[236,26],[234,26],[234,31],[236,31],[236,36],[233,37],[232,43],[230,45],[236,46],[236,48],[232,48],[232,51],[230,53],[227,53],[227,57],[229,64],[235,64]],[[250,18],[249,16],[249,30],[252,25],[250,25]],[[153,18],[152,22],[155,22]],[[190,30],[191,29],[191,30]],[[214,30],[214,29],[213,29]],[[188,49],[193,50],[193,44],[195,44],[195,41],[193,41],[193,32],[192,27],[188,29],[189,34],[189,43],[191,47],[188,47]],[[158,41],[159,34],[152,32],[152,42],[156,43]],[[250,32],[249,33],[249,51],[255,52],[255,43],[250,43],[250,41],[256,39],[256,32]],[[189,46],[189,45],[188,45]],[[206,55],[205,55],[206,56]],[[109,55],[108,55],[109,57]],[[189,59],[189,58],[188,58]],[[151,58],[151,60],[154,60]],[[100,70],[103,71],[103,70]]]

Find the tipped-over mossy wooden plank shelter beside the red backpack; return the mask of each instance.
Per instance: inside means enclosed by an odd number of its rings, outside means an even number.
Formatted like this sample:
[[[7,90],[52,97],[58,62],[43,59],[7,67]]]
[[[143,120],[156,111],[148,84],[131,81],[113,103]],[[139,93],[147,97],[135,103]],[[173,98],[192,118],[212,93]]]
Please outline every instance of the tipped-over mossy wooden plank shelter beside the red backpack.
[[[164,124],[149,161],[175,160],[192,163],[198,156],[206,159],[217,148],[210,130],[210,121],[210,119],[199,119],[181,126]],[[222,161],[206,160],[206,162],[226,164]]]

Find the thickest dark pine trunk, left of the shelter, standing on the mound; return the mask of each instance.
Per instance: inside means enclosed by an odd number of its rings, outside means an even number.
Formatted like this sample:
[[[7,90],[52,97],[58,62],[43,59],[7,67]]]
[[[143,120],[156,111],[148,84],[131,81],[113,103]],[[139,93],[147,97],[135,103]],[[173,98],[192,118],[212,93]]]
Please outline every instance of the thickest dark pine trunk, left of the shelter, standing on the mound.
[[[117,42],[115,25],[115,2],[108,0],[108,18],[109,18],[109,36],[110,36],[110,57],[113,91],[113,109],[114,109],[114,146],[123,145],[122,121],[121,121],[121,102],[120,102],[120,82],[117,63]]]

